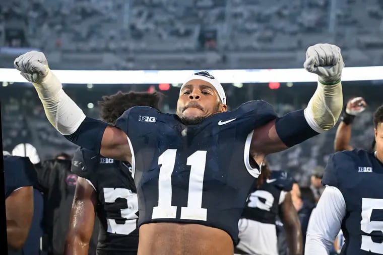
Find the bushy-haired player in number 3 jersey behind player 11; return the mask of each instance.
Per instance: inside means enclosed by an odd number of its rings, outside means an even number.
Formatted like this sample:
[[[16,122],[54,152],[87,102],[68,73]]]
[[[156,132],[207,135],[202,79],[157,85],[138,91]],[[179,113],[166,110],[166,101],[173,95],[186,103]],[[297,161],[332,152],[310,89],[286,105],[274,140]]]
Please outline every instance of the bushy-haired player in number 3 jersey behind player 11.
[[[114,125],[124,111],[134,106],[159,110],[160,93],[118,92],[98,102],[103,121]],[[138,201],[131,164],[78,148],[72,172],[79,176],[72,205],[65,254],[88,254],[89,240],[100,221],[98,255],[133,255],[138,248]]]

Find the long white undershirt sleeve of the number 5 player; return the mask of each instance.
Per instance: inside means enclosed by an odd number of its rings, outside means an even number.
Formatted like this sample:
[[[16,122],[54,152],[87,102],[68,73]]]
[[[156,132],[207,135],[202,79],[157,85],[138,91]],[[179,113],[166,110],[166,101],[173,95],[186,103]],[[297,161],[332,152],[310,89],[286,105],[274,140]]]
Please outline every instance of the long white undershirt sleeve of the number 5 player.
[[[341,191],[326,186],[308,221],[305,255],[326,255],[334,245],[346,214],[346,202]]]

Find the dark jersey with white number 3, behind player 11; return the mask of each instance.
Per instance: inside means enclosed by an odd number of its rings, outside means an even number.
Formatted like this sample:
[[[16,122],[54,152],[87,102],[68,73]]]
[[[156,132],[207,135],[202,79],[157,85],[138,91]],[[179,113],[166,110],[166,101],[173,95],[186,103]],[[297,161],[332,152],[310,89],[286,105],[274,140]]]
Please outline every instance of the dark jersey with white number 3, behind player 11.
[[[137,254],[138,201],[131,165],[79,148],[72,172],[89,181],[97,193],[100,220],[98,255]]]

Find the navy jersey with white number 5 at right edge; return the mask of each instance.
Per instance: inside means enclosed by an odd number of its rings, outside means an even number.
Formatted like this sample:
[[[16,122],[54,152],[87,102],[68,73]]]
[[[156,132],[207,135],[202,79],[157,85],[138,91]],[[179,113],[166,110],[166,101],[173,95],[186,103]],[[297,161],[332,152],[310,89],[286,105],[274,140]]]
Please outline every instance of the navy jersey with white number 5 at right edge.
[[[373,152],[353,149],[332,154],[322,179],[337,187],[346,203],[341,254],[383,254],[383,164]]]

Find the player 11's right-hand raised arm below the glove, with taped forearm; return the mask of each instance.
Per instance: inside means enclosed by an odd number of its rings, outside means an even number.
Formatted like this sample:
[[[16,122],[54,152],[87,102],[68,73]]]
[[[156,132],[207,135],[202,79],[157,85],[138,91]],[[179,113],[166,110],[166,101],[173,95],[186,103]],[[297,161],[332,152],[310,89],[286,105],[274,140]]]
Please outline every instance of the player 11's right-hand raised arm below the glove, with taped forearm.
[[[314,135],[330,130],[342,112],[341,82],[317,89],[304,110],[288,113],[268,124],[254,129],[250,154],[257,163],[263,157],[299,144]]]

